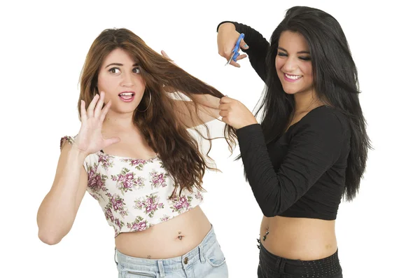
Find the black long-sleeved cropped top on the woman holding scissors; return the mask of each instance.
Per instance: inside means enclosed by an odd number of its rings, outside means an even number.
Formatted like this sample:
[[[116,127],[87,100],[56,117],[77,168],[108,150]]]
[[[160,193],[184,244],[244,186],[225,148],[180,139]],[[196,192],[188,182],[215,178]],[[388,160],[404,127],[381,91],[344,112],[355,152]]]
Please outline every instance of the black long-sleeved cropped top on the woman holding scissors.
[[[243,51],[265,81],[268,41],[251,27],[232,23],[245,34],[249,48]],[[346,116],[329,106],[309,111],[268,145],[259,124],[237,130],[246,176],[262,213],[334,220],[344,190],[350,134]]]

